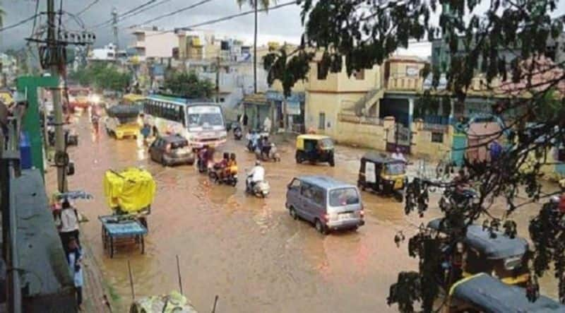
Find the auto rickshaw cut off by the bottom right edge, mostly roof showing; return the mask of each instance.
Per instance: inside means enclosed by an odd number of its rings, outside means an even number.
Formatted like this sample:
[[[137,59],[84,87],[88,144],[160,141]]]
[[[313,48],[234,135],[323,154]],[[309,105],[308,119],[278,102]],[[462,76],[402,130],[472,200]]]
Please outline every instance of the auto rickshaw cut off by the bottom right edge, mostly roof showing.
[[[485,273],[459,280],[451,286],[442,313],[463,312],[565,312],[565,305],[540,296],[535,302],[524,288],[509,286]]]

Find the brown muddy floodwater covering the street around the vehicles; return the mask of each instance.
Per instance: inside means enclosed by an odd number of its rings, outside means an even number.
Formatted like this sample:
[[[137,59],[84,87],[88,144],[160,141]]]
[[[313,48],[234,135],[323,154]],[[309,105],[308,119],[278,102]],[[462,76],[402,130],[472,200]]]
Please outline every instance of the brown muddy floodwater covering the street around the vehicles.
[[[397,248],[393,236],[404,230],[408,238],[416,225],[439,215],[432,210],[422,219],[406,217],[401,203],[364,192],[366,225],[356,232],[323,236],[309,223],[290,218],[286,185],[306,174],[355,184],[363,150],[336,148],[335,167],[297,165],[293,144],[283,143],[282,162],[264,163],[271,194],[257,199],[244,194],[243,182],[254,155],[246,152],[244,141],[233,141],[232,134],[220,150],[237,153],[241,181],[235,188],[212,184],[191,166],[153,163],[147,148],[134,139],[93,136],[86,119],[78,129],[79,146],[71,148],[76,175],[69,177],[69,186],[95,196],[76,203],[90,220],[83,224],[81,237],[92,250],[88,257],[111,286],[114,312],[125,312],[131,302],[128,260],[136,297],[141,297],[178,289],[177,255],[184,294],[200,312],[210,312],[215,295],[220,297],[216,312],[397,312],[396,306],[386,305],[388,288],[399,271],[416,270],[417,260],[408,256],[408,241]],[[129,166],[145,167],[157,182],[145,254],[121,249],[110,259],[102,249],[97,220],[110,213],[102,178],[107,169]],[[534,213],[519,213],[521,234],[527,234],[524,225]],[[553,284],[544,289],[554,296]]]

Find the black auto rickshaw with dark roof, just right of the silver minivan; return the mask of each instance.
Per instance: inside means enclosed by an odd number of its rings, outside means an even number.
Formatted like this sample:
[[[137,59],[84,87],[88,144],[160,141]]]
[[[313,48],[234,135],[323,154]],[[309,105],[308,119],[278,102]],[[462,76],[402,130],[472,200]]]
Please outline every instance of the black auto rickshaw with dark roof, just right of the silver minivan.
[[[369,152],[361,158],[357,187],[381,194],[393,194],[402,202],[406,185],[406,163],[386,154]]]

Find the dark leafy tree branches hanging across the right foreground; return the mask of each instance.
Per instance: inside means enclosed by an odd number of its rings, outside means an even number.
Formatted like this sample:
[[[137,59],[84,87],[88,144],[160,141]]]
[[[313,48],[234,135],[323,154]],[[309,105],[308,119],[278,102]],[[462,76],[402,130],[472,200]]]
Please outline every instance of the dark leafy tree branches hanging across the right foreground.
[[[504,105],[497,105],[493,118],[506,118],[506,125],[489,134],[506,143],[496,160],[471,163],[466,160],[470,182],[477,185],[478,199],[473,203],[440,203],[442,225],[448,234],[447,244],[454,247],[465,236],[471,223],[488,218],[487,228],[503,228],[515,235],[512,213],[526,203],[540,203],[540,213],[530,223],[533,273],[528,292],[535,290],[536,277],[552,267],[559,280],[559,297],[565,302],[565,218],[556,213],[550,196],[561,191],[542,190],[541,167],[554,148],[565,145],[565,64],[545,61],[547,40],[563,30],[563,17],[552,18],[556,0],[302,0],[302,43],[295,52],[271,52],[264,57],[269,71],[268,83],[283,82],[285,93],[297,81],[307,78],[309,65],[316,61],[321,73],[371,68],[396,49],[408,47],[409,40],[444,40],[451,52],[447,61],[447,92],[463,102],[472,79],[484,73],[483,88],[492,94],[502,93]],[[439,16],[434,22],[433,16]],[[512,51],[509,59],[504,51]],[[319,52],[319,59],[314,59]],[[345,62],[345,64],[344,64]],[[433,71],[432,71],[433,70]],[[434,86],[439,69],[424,69],[422,76],[433,72]],[[465,131],[468,125],[459,129]],[[428,189],[456,182],[436,182],[419,177],[408,184],[405,212],[423,215],[428,208]],[[527,191],[528,201],[516,203],[520,190]],[[449,195],[446,194],[448,197]],[[494,199],[504,197],[507,209],[503,216],[492,210]],[[545,203],[545,204],[544,204]],[[402,312],[412,312],[420,301],[424,312],[432,312],[440,288],[436,279],[441,258],[437,237],[421,231],[410,238],[409,253],[420,259],[417,273],[400,273],[391,286],[389,304],[398,303]],[[449,256],[449,255],[448,255]],[[531,295],[531,294],[530,294]],[[534,297],[532,300],[535,300]]]

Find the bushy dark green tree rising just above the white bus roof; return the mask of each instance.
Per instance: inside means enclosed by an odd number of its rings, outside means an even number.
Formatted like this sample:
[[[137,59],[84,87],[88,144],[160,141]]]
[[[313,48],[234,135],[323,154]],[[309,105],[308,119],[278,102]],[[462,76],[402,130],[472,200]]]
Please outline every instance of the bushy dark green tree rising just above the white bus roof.
[[[198,78],[194,72],[173,71],[165,77],[164,87],[186,98],[209,98],[214,92],[214,84]]]

